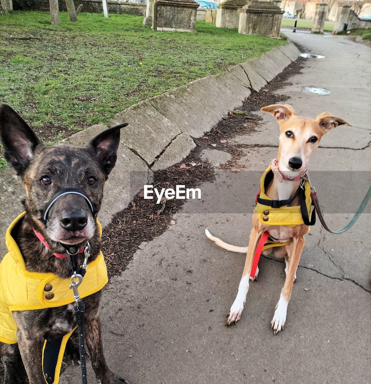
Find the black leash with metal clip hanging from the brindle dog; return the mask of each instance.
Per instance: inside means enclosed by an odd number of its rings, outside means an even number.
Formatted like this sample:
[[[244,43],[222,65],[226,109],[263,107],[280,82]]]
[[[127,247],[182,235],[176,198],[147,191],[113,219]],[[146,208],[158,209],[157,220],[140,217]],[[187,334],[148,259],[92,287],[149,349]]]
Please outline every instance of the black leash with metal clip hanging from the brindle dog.
[[[71,248],[70,248],[71,249]],[[83,276],[86,273],[86,269],[88,268],[88,258],[89,258],[89,242],[88,245],[84,248],[84,263],[78,268],[78,248],[76,250],[76,253],[70,252],[70,250],[67,250],[67,253],[70,255],[71,260],[71,281],[72,284],[70,285],[70,289],[73,290],[73,297],[75,298],[75,317],[76,317],[76,323],[78,326],[78,333],[79,333],[79,350],[80,350],[80,363],[81,363],[81,383],[82,384],[88,384],[88,379],[86,375],[86,351],[85,351],[85,336],[84,336],[84,320],[85,320],[85,305],[84,302],[81,300],[79,292],[78,292],[78,286],[83,281]],[[76,279],[78,279],[76,281]]]

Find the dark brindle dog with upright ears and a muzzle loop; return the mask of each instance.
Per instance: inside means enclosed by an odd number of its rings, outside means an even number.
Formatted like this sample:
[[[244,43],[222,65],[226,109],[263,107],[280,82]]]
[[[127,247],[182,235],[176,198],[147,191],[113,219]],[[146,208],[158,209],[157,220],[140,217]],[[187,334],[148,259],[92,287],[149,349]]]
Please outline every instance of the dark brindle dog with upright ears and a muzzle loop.
[[[45,147],[8,104],[0,106],[0,139],[4,157],[17,171],[26,189],[23,202],[26,215],[15,240],[28,271],[51,272],[61,279],[69,278],[70,258],[56,258],[53,255],[66,254],[66,248],[61,243],[81,246],[89,240],[89,261],[98,256],[101,242],[96,213],[101,207],[104,182],[116,163],[120,129],[125,125],[101,132],[85,148],[64,144]],[[64,188],[81,189],[93,203],[95,216],[83,197],[70,194],[53,204],[45,226],[40,221],[45,204]],[[51,251],[41,244],[32,228],[45,237]],[[78,265],[81,265],[84,254],[78,255]],[[99,316],[101,296],[99,291],[83,300],[86,307],[85,341],[91,363],[98,383],[129,384],[111,372],[104,359]],[[59,338],[71,331],[75,323],[73,305],[15,311],[13,318],[18,326],[18,344],[0,343],[0,356],[3,356],[5,366],[4,383],[20,383],[24,364],[30,384],[45,384],[41,367],[44,339]]]

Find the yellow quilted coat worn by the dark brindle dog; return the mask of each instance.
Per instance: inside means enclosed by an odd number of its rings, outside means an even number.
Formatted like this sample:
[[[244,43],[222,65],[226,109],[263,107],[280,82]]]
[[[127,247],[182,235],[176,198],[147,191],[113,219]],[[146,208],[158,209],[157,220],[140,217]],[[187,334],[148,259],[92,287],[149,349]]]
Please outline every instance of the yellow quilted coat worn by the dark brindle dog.
[[[9,252],[0,263],[0,341],[6,344],[17,343],[17,324],[13,319],[12,311],[40,310],[75,302],[73,292],[70,290],[70,278],[60,279],[53,273],[29,272],[26,270],[22,253],[14,240],[14,233],[12,233],[24,216],[25,212],[10,224],[5,236]],[[102,227],[98,220],[97,224],[99,232],[102,234]],[[79,286],[81,298],[98,292],[107,282],[107,267],[103,254],[100,252],[94,261],[88,263],[88,269]],[[50,375],[53,376],[53,381],[48,382],[48,384],[57,383],[59,380],[64,349],[71,333],[66,334],[63,339],[61,338],[61,343],[58,344],[58,361],[56,361],[55,372]],[[47,342],[45,341],[43,351],[46,348]]]

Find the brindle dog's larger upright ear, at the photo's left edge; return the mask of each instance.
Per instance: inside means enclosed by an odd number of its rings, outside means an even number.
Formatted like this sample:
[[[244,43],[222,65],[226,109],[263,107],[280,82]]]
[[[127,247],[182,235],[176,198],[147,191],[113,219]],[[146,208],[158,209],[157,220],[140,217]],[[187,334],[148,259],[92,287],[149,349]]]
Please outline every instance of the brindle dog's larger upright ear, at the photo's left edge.
[[[35,132],[8,104],[0,105],[0,141],[5,160],[22,175],[38,145],[43,146]]]

